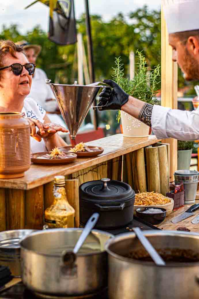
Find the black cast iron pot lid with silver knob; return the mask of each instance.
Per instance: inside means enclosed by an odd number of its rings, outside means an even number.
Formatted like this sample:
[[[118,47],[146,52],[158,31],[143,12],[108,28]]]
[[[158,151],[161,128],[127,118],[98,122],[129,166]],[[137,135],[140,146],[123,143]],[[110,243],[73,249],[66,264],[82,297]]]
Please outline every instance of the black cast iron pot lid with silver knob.
[[[135,192],[126,183],[104,178],[81,184],[79,196],[90,202],[122,202],[134,198]]]

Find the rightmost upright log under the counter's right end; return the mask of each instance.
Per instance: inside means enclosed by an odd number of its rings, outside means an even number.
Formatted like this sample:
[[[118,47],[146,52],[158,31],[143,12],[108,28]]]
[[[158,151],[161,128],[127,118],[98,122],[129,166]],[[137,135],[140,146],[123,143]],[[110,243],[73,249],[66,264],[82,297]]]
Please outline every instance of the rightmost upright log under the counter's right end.
[[[166,193],[169,192],[169,168],[166,145],[158,146],[157,149],[160,169],[160,193],[166,196]]]

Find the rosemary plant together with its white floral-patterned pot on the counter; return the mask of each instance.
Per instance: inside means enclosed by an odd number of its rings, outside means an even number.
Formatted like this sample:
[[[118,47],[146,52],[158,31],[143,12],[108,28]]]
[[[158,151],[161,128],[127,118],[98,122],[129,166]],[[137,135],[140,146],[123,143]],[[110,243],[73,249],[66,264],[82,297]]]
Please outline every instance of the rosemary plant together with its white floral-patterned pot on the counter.
[[[115,59],[113,68],[113,79],[129,95],[146,103],[154,104],[157,94],[158,78],[160,76],[160,65],[156,66],[151,74],[147,74],[146,59],[143,54],[136,51],[138,62],[134,78],[124,78],[124,69],[121,58]],[[122,129],[125,137],[148,137],[149,127],[140,120],[134,118],[124,111],[118,111],[117,121],[122,118]]]

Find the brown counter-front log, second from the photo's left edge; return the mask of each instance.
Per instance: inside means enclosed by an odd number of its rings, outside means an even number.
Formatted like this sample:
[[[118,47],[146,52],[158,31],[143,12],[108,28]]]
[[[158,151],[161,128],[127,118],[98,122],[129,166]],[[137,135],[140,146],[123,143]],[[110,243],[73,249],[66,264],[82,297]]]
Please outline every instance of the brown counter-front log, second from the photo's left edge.
[[[25,191],[6,190],[7,230],[25,228]]]

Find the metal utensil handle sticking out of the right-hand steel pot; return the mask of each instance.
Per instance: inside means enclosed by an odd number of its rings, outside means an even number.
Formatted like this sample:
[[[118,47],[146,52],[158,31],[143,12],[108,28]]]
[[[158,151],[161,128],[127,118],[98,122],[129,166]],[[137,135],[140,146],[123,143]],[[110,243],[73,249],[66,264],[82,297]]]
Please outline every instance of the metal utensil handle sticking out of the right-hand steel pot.
[[[146,251],[150,254],[151,258],[154,260],[154,263],[159,266],[165,266],[165,262],[157,253],[155,248],[151,245],[145,235],[142,233],[139,227],[135,227],[133,229],[134,233],[136,234],[137,238],[140,240]]]

